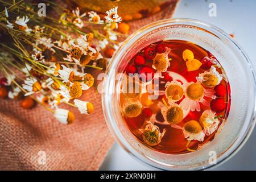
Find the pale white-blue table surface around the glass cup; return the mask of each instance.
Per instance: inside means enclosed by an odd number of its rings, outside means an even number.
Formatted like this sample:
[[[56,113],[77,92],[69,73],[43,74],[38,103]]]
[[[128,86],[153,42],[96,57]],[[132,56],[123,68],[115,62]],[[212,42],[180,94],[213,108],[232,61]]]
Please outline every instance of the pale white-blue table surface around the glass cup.
[[[150,0],[149,0],[150,1]],[[217,16],[208,15],[209,3],[216,3]],[[174,18],[193,18],[214,24],[234,34],[256,68],[256,1],[255,0],[181,0]],[[256,170],[256,127],[245,146],[217,170]],[[138,162],[114,143],[100,170],[152,170]]]

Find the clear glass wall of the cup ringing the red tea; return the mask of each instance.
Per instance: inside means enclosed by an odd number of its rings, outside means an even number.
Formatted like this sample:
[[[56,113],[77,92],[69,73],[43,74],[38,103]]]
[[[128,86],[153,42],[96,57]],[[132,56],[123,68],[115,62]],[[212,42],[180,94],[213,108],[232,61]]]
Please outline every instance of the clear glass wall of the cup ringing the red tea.
[[[119,85],[131,57],[138,50],[160,40],[186,40],[210,51],[224,68],[231,88],[229,117],[220,134],[198,151],[188,154],[163,154],[144,146],[127,128],[119,108]],[[104,81],[102,107],[106,123],[115,140],[127,152],[150,166],[167,169],[207,169],[214,151],[217,165],[231,158],[245,144],[255,121],[255,74],[249,58],[224,31],[192,19],[164,19],[148,24],[127,38],[116,51]]]

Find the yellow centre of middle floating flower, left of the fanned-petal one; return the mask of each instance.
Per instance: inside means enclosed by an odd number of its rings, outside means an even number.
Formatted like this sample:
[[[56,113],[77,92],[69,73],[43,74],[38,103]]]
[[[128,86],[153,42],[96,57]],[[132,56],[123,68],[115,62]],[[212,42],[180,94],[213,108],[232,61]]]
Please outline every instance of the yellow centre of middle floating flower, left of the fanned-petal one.
[[[184,94],[183,88],[180,85],[172,84],[166,88],[166,96],[174,101],[178,101]]]

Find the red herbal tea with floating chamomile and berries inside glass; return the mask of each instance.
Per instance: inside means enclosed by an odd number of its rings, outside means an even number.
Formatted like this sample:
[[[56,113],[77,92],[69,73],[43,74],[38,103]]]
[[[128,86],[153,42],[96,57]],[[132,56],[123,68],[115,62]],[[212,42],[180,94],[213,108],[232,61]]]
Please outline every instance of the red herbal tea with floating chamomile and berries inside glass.
[[[134,55],[125,75],[119,94],[123,119],[153,150],[199,150],[228,117],[231,97],[225,71],[214,55],[196,44],[151,44]]]

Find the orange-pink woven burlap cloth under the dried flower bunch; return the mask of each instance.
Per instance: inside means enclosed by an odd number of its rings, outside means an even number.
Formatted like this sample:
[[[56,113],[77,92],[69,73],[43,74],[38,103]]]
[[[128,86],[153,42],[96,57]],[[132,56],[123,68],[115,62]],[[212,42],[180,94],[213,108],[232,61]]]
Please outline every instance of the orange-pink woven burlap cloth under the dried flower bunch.
[[[174,0],[164,11],[131,22],[130,32],[155,20],[170,18],[176,3]],[[75,108],[63,106],[76,115],[75,123],[63,125],[40,105],[24,110],[20,101],[1,99],[0,169],[97,170],[114,140],[106,126],[96,86],[84,91],[81,100],[92,102],[94,113],[80,114]]]

